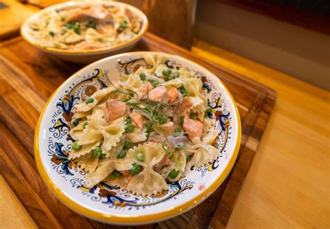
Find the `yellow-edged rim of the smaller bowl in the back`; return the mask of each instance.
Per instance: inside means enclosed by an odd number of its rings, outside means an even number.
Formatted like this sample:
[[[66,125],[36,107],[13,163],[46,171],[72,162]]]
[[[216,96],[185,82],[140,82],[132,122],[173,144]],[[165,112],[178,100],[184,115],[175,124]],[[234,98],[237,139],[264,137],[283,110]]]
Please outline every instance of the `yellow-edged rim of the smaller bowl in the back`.
[[[31,15],[31,17],[36,17],[37,14],[40,14],[42,12],[47,12],[49,10],[56,10],[58,8],[61,8],[61,6],[62,6],[62,8],[65,8],[65,6],[68,6],[68,3],[73,3],[73,5],[77,5],[77,6],[84,6],[85,4],[86,5],[91,4],[91,2],[88,2],[88,1],[68,1],[68,2],[64,2],[64,3],[58,3],[58,4],[54,5],[54,6],[49,6],[47,8],[44,8],[44,9],[38,11],[36,14]],[[84,50],[84,51],[74,51],[74,50],[56,49],[56,48],[53,48],[53,47],[46,47],[46,46],[39,45],[35,41],[30,40],[23,33],[23,26],[27,26],[26,23],[29,21],[29,19],[31,19],[31,17],[29,17],[28,19],[26,19],[24,21],[24,23],[21,26],[21,29],[19,30],[19,33],[22,36],[22,38],[26,42],[28,42],[30,45],[32,45],[34,47],[37,47],[38,49],[42,49],[45,52],[53,52],[53,53],[57,53],[57,54],[72,54],[72,55],[74,55],[74,54],[102,54],[102,53],[106,53],[106,52],[116,51],[116,50],[118,50],[118,49],[120,49],[122,47],[125,47],[125,46],[127,46],[129,44],[132,44],[132,43],[136,42],[148,30],[148,27],[149,27],[148,18],[138,8],[136,8],[134,6],[131,6],[131,5],[127,4],[127,3],[118,2],[118,1],[103,1],[103,2],[101,1],[101,2],[97,2],[97,3],[115,3],[114,5],[117,4],[117,5],[122,5],[123,7],[124,6],[127,6],[127,7],[130,7],[130,8],[134,8],[134,10],[138,11],[139,13],[141,13],[141,15],[143,15],[143,17],[141,17],[143,19],[142,30],[134,38],[132,38],[131,40],[127,40],[127,41],[122,42],[122,43],[120,43],[118,45],[107,47],[107,48],[104,48],[104,49],[95,49],[95,50],[91,49],[91,50]]]

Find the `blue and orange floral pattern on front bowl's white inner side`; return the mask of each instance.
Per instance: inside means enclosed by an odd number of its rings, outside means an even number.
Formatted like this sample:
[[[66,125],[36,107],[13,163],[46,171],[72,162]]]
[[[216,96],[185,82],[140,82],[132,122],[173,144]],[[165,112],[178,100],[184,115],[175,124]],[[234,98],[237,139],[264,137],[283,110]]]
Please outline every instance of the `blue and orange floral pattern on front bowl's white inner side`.
[[[207,182],[211,179],[212,174],[217,176],[221,173],[217,171],[226,167],[223,161],[228,163],[230,157],[234,157],[232,145],[237,145],[238,141],[237,135],[239,134],[233,132],[237,129],[237,113],[235,113],[234,119],[232,113],[235,112],[235,106],[232,104],[233,101],[228,100],[226,90],[219,90],[219,86],[216,85],[219,82],[214,81],[214,76],[210,78],[210,75],[207,75],[210,72],[205,72],[203,68],[196,70],[194,65],[183,65],[180,59],[170,56],[166,61],[166,65],[171,68],[184,66],[185,70],[194,72],[203,81],[203,93],[207,96],[209,106],[212,107],[210,118],[216,120],[214,128],[221,129],[221,133],[214,142],[214,147],[219,149],[219,156],[212,163],[205,166],[191,166],[190,171],[193,175],[188,174],[178,182],[169,183],[168,190],[163,191],[162,194],[136,196],[125,189],[107,184],[107,181],[97,184],[92,189],[84,187],[86,172],[84,169],[79,168],[79,164],[75,161],[68,159],[71,143],[73,142],[69,132],[79,122],[79,120],[73,120],[72,118],[74,115],[73,107],[81,100],[85,100],[86,97],[92,95],[96,90],[110,85],[108,75],[129,74],[141,65],[148,65],[141,55],[137,55],[140,56],[139,58],[134,56],[136,55],[123,55],[116,60],[116,63],[112,60],[112,68],[104,68],[106,67],[104,65],[93,68],[92,65],[97,65],[94,63],[89,66],[88,70],[76,74],[76,79],[68,80],[61,93],[56,93],[57,96],[52,98],[52,102],[47,106],[49,111],[46,110],[45,112],[50,117],[50,121],[45,121],[45,125],[42,126],[45,128],[43,131],[47,136],[47,143],[45,143],[47,145],[47,155],[42,155],[42,161],[44,161],[44,164],[47,163],[49,168],[52,168],[52,171],[48,173],[52,173],[54,177],[56,176],[57,183],[70,187],[68,193],[74,193],[75,202],[84,200],[85,205],[88,203],[97,205],[95,208],[102,208],[103,212],[107,208],[122,213],[132,211],[135,213],[143,209],[152,210],[156,205],[166,206],[168,201],[181,201],[182,196],[187,198],[185,193],[188,191],[203,191],[207,188]],[[233,129],[233,125],[236,125],[235,129]],[[230,149],[228,149],[228,146],[230,146]],[[226,159],[223,159],[223,157],[226,157]]]

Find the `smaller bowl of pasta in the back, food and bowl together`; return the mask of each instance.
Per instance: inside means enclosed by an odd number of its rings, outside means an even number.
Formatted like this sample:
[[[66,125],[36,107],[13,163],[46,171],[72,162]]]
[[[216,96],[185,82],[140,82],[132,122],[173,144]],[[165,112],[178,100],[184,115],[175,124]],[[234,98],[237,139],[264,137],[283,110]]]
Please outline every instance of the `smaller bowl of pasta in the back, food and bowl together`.
[[[116,1],[69,1],[32,15],[26,42],[66,61],[91,63],[132,49],[148,29],[141,10]]]

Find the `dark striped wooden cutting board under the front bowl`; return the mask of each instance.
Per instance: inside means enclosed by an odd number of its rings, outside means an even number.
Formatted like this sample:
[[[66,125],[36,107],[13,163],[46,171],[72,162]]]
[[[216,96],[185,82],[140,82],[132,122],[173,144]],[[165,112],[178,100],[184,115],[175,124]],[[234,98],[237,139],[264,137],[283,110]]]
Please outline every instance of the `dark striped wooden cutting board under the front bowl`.
[[[239,157],[221,187],[185,214],[139,228],[207,228],[212,217],[225,228],[272,113],[276,92],[152,33],[146,33],[135,49],[177,54],[208,68],[233,94],[242,119]],[[0,45],[0,173],[41,228],[123,228],[91,221],[69,210],[49,193],[34,162],[33,134],[42,107],[53,91],[82,67],[47,56],[20,37]]]

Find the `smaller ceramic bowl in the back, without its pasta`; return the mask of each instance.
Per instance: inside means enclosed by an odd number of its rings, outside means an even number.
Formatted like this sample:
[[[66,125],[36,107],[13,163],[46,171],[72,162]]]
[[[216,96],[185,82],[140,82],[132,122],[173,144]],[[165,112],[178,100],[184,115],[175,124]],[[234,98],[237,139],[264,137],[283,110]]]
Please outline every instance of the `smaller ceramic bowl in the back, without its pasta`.
[[[142,38],[143,34],[146,33],[146,31],[148,30],[148,24],[149,24],[148,19],[146,15],[138,8],[135,8],[134,6],[130,6],[127,3],[121,3],[117,1],[97,1],[97,4],[102,4],[106,6],[116,6],[118,8],[128,8],[129,10],[132,11],[132,13],[138,15],[138,17],[140,17],[141,19],[142,25],[141,25],[141,29],[136,34],[136,36],[125,42],[121,42],[117,45],[113,45],[111,47],[105,47],[102,49],[68,50],[68,49],[58,49],[54,47],[47,47],[44,45],[40,45],[40,40],[33,38],[33,36],[31,35],[31,29],[29,28],[29,23],[38,20],[38,18],[42,13],[47,13],[54,10],[63,10],[65,8],[93,5],[93,4],[95,3],[91,3],[88,1],[68,1],[65,3],[56,4],[54,6],[49,6],[43,10],[40,10],[38,11],[38,13],[35,13],[34,15],[26,19],[26,21],[22,24],[20,30],[22,38],[24,38],[24,40],[26,40],[26,42],[28,42],[30,45],[33,45],[34,47],[42,50],[42,52],[46,52],[47,54],[50,54],[52,56],[62,58],[65,61],[71,61],[77,63],[92,63],[93,61],[100,60],[100,58],[129,51],[136,45],[136,43]]]

